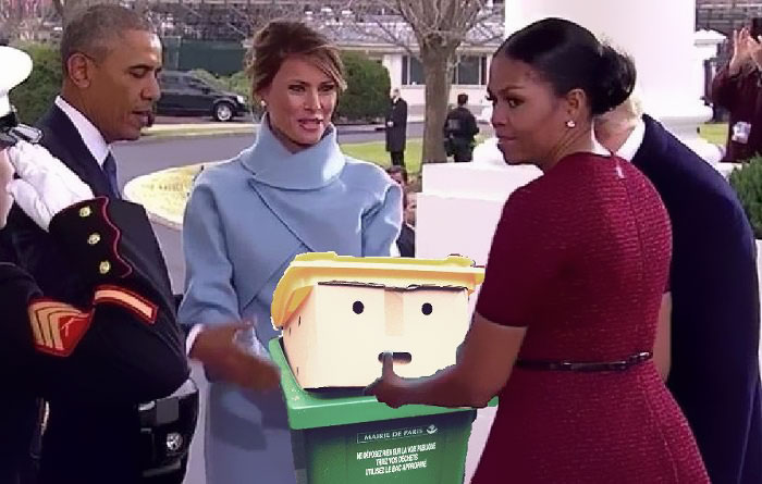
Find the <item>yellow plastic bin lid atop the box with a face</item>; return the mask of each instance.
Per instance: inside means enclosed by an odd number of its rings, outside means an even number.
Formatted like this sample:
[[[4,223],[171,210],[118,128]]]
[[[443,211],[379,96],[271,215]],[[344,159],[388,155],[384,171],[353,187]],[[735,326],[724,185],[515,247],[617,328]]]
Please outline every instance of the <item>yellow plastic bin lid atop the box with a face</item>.
[[[460,287],[472,293],[484,280],[484,268],[463,256],[445,259],[352,257],[308,252],[294,258],[278,282],[270,312],[282,328],[319,283],[359,283],[377,287]]]

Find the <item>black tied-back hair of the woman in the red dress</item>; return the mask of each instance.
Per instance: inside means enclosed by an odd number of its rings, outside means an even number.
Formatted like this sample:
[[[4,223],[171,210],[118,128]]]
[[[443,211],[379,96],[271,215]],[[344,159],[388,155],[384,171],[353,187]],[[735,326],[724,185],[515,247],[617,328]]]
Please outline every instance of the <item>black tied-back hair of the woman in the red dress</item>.
[[[557,96],[581,89],[592,115],[623,103],[635,88],[635,62],[601,44],[587,28],[544,18],[512,34],[495,52],[529,64]]]

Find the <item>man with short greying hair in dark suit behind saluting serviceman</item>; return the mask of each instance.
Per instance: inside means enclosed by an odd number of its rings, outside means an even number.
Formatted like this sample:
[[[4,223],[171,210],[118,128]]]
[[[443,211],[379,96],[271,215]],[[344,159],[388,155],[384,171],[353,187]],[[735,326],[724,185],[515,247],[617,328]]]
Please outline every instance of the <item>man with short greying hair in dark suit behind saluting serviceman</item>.
[[[110,145],[140,136],[150,124],[159,98],[156,78],[161,67],[161,45],[148,22],[134,11],[116,5],[87,9],[66,26],[61,39],[63,85],[56,104],[38,122],[41,145],[65,163],[95,196],[120,199],[116,166]],[[147,227],[124,227],[138,231]],[[76,308],[86,308],[91,295],[57,241],[17,207],[8,227],[23,269],[46,296]],[[152,237],[152,232],[149,232]],[[147,235],[145,235],[147,236]],[[160,255],[159,255],[160,256]],[[170,290],[161,257],[156,280]],[[49,419],[42,439],[40,480],[56,482],[62,467],[81,457],[75,442],[103,438],[109,422],[110,445],[88,446],[88,461],[110,467],[113,479],[135,482],[142,459],[140,419],[133,401],[81,405],[69,399],[49,401]],[[110,479],[111,475],[109,475]],[[137,477],[136,477],[137,475]]]

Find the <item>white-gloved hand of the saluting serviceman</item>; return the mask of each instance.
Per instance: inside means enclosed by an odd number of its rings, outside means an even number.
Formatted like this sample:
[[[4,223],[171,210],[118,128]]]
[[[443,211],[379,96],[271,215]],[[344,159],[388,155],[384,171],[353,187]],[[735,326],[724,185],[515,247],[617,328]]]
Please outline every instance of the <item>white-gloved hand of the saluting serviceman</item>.
[[[42,229],[63,209],[89,200],[93,190],[78,176],[39,145],[19,141],[8,159],[20,178],[8,185],[15,202]]]

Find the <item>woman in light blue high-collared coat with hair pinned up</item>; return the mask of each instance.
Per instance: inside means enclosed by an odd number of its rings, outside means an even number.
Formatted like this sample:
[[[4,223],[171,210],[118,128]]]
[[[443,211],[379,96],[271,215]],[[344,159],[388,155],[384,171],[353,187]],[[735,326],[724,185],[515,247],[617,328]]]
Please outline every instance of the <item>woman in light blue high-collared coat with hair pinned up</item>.
[[[335,48],[300,23],[255,38],[253,89],[267,107],[257,139],[197,178],[185,213],[185,324],[253,320],[241,342],[267,356],[275,285],[294,256],[390,256],[402,191],[380,167],[344,156],[331,115],[345,88]],[[207,370],[209,370],[207,368]],[[214,381],[206,421],[209,484],[297,481],[280,392]]]

